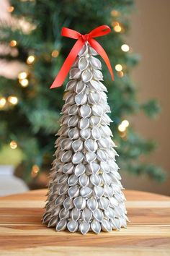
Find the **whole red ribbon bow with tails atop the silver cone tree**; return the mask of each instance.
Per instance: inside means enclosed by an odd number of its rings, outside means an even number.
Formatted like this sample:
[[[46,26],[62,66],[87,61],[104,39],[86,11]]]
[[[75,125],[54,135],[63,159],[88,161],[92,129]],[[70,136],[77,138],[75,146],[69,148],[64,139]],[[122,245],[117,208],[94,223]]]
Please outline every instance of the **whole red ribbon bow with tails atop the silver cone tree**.
[[[77,39],[77,41],[71,49],[70,53],[68,54],[66,60],[64,61],[63,66],[58,72],[57,77],[55,77],[53,85],[51,85],[50,89],[57,88],[63,85],[63,82],[66,79],[66,76],[74,63],[76,56],[79,54],[79,51],[84,46],[86,41],[90,44],[91,47],[94,48],[94,50],[97,51],[100,56],[102,56],[105,63],[107,64],[112,80],[114,80],[112,67],[109,62],[107,53],[104,51],[104,48],[102,48],[102,46],[97,42],[97,40],[94,40],[94,38],[97,38],[98,36],[107,35],[108,33],[110,33],[110,31],[111,29],[107,25],[102,25],[94,28],[94,30],[91,30],[89,34],[81,35],[81,33],[77,32],[76,30],[71,30],[68,27],[63,27],[61,35],[66,36],[67,38]]]

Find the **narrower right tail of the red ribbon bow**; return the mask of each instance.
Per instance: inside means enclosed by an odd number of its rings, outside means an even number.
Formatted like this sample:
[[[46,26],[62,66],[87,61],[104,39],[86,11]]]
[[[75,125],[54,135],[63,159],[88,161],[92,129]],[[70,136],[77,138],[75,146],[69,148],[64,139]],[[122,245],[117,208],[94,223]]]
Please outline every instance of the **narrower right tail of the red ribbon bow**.
[[[102,59],[104,59],[105,63],[107,64],[107,68],[109,69],[109,73],[111,74],[112,80],[114,80],[114,74],[112,72],[112,66],[109,62],[109,57],[107,56],[107,53],[104,51],[104,48],[97,42],[97,40],[94,40],[93,38],[89,39],[89,44],[91,47],[94,48],[94,50],[97,51],[97,53],[102,56]]]

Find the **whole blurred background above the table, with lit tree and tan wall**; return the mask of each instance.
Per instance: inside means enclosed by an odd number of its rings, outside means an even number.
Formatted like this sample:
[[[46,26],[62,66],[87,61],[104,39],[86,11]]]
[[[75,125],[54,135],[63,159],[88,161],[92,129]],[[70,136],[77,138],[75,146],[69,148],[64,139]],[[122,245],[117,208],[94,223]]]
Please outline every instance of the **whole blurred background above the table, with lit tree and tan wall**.
[[[0,1],[0,195],[47,187],[62,88],[49,90],[81,33],[107,24],[99,38],[122,184],[170,195],[169,0]],[[103,63],[103,62],[102,62]]]

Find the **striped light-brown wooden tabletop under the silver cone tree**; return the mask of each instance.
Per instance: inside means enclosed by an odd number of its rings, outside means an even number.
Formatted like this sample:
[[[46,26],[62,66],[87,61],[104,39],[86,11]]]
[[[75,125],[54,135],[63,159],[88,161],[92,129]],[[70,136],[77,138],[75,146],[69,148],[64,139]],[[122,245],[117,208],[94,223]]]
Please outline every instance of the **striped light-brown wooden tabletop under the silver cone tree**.
[[[128,229],[83,236],[42,225],[45,193],[0,197],[0,255],[170,255],[170,197],[127,190]]]

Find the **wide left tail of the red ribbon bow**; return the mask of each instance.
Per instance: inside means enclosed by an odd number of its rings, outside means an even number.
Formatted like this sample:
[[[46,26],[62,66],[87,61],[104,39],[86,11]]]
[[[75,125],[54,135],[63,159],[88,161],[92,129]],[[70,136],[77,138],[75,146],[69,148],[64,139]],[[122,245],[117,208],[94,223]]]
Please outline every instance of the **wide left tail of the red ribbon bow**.
[[[63,85],[64,80],[66,79],[66,76],[71,69],[73,62],[76,59],[76,56],[79,54],[79,51],[84,46],[84,40],[79,38],[79,40],[76,41],[75,45],[71,49],[70,53],[68,54],[66,60],[63,63],[63,66],[61,67],[60,71],[58,72],[57,77],[55,77],[55,80],[53,84],[50,86],[50,89],[58,88]]]

